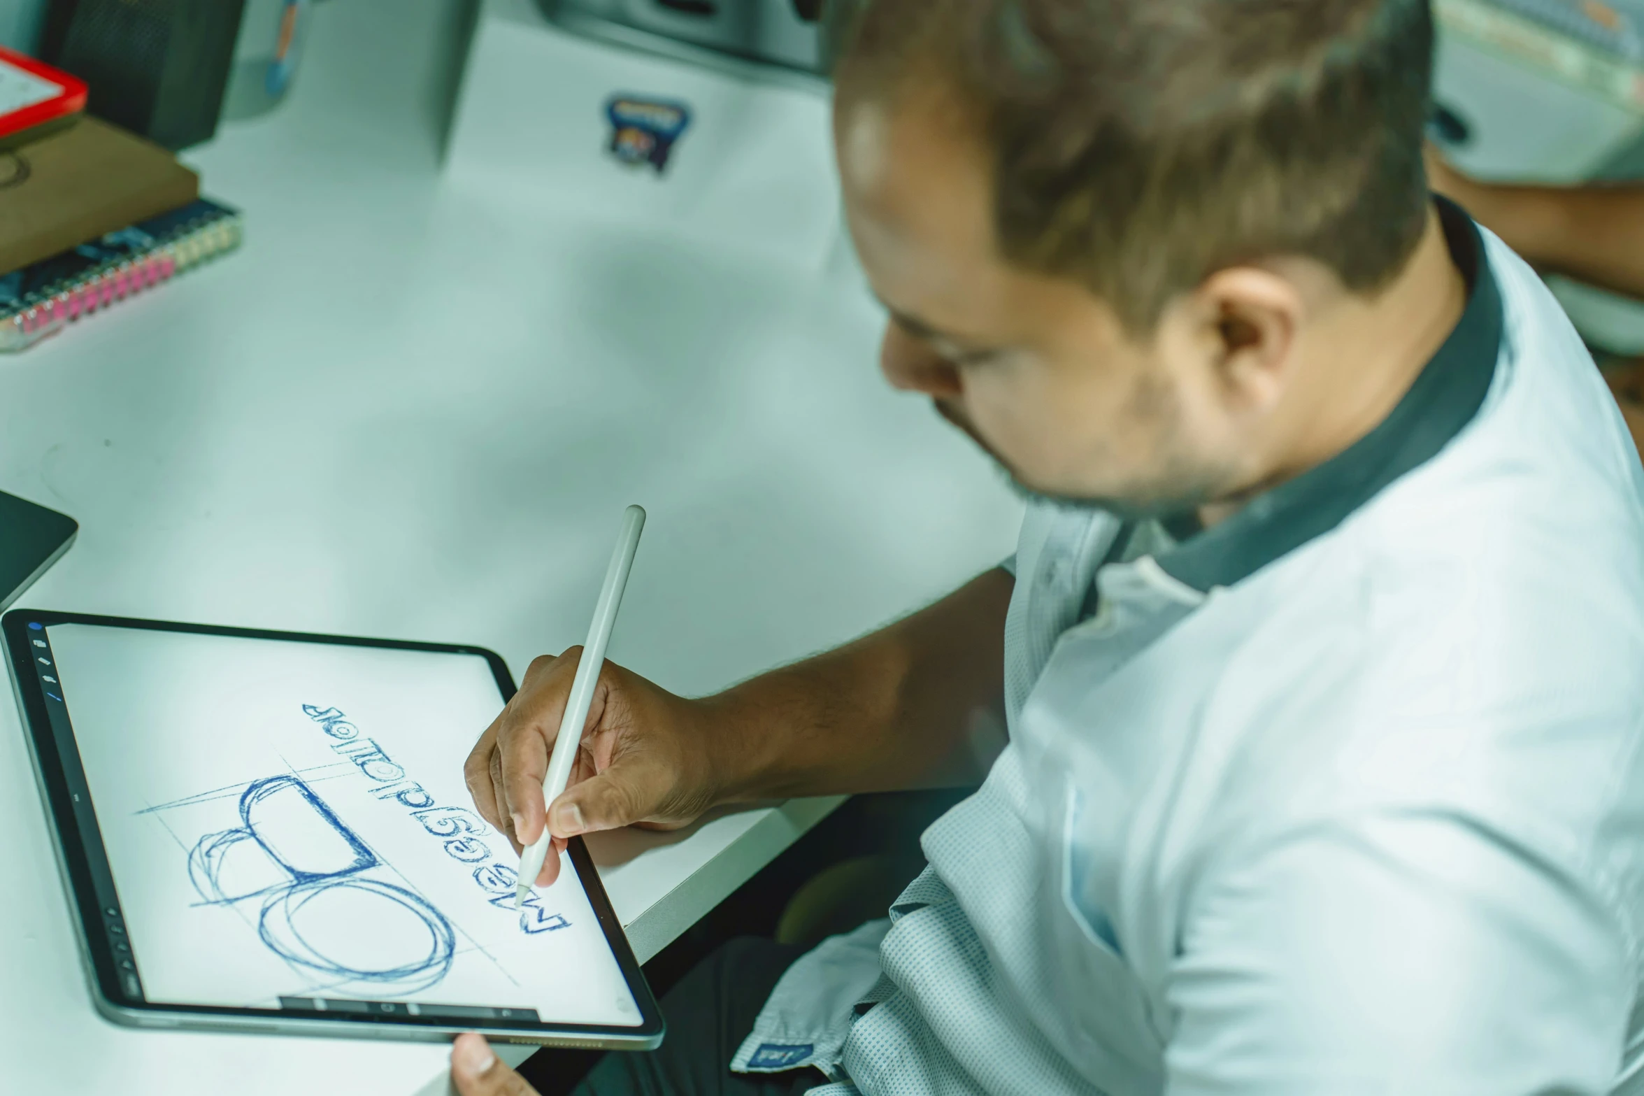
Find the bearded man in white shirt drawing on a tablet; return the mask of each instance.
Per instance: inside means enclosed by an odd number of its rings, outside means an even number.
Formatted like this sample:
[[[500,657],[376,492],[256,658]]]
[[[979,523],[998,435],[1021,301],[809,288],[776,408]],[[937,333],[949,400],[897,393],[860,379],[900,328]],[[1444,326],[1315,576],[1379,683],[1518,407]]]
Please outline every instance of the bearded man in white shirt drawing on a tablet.
[[[579,1091],[1628,1091],[1644,470],[1429,196],[1430,51],[1424,0],[853,16],[883,368],[1032,493],[1019,550],[717,697],[607,665],[546,810],[539,659],[469,785],[529,841],[986,779],[886,920],[722,951]],[[452,1073],[524,1091],[473,1035]]]

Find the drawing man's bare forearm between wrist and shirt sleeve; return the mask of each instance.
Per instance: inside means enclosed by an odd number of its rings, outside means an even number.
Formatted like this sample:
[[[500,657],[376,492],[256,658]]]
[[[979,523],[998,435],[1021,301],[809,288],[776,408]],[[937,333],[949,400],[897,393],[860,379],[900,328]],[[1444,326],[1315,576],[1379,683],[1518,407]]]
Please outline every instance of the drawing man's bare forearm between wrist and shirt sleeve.
[[[935,605],[705,702],[727,802],[980,781],[1004,744],[1004,611],[990,570]]]

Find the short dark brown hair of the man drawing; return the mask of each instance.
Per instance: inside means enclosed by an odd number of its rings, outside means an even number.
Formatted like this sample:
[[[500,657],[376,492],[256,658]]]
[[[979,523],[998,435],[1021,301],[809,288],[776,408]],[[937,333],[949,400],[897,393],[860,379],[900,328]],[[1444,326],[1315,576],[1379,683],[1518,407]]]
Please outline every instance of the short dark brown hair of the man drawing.
[[[1371,296],[1420,240],[1429,0],[835,0],[834,35],[847,99],[957,94],[1004,256],[1133,334],[1279,255]]]

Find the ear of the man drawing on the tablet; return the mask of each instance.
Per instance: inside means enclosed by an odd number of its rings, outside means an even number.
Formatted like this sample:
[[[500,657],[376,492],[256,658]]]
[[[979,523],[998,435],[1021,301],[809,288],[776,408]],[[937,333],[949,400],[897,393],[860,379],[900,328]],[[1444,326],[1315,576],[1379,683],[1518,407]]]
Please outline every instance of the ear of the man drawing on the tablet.
[[[1295,284],[1259,266],[1233,266],[1203,281],[1195,312],[1217,381],[1235,411],[1261,412],[1284,394],[1305,302]]]

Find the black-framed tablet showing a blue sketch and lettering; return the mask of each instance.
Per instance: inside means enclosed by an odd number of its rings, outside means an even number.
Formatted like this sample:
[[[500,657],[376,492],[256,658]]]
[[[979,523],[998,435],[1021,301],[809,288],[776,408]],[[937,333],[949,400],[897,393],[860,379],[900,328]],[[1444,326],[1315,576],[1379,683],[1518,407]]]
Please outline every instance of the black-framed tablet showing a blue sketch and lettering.
[[[515,910],[462,777],[515,692],[496,654],[35,610],[0,631],[109,1019],[661,1043],[580,840]]]

